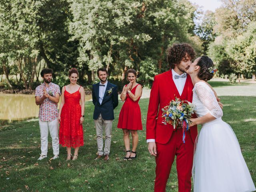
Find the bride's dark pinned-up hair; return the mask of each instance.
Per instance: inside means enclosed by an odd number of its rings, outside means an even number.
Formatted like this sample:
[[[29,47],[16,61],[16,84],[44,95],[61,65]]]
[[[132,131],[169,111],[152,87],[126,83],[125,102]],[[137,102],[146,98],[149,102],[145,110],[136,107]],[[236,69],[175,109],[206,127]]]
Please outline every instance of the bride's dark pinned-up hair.
[[[211,73],[208,69],[210,67],[214,67],[211,58],[208,56],[202,56],[196,65],[200,66],[199,72],[197,74],[199,79],[208,81],[214,76],[214,74]]]

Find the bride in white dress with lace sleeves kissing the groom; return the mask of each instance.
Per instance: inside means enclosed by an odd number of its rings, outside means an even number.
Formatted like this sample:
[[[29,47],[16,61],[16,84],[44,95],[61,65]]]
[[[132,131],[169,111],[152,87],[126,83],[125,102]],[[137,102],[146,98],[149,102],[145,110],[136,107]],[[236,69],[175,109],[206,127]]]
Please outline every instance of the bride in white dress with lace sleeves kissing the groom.
[[[187,70],[194,84],[193,104],[202,124],[195,144],[194,192],[253,192],[255,186],[232,128],[221,117],[216,92],[207,83],[214,64],[207,56],[197,58]]]

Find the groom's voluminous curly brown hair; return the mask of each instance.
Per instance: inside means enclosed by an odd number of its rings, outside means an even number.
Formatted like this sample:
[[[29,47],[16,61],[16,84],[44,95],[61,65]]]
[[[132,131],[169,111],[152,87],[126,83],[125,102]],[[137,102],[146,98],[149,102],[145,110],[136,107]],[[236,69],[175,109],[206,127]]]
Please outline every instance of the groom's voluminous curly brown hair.
[[[192,46],[187,43],[181,44],[173,44],[166,50],[167,62],[170,68],[174,68],[175,64],[180,64],[182,58],[186,57],[186,53],[188,54],[190,59],[194,59],[196,53]]]

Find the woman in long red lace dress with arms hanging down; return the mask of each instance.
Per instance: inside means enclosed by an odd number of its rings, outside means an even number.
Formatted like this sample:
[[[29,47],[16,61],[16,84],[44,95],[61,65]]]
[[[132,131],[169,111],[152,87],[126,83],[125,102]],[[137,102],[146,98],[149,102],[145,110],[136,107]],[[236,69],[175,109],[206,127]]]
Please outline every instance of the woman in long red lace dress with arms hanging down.
[[[84,121],[84,88],[76,84],[78,71],[69,70],[70,84],[62,88],[58,122],[60,123],[60,144],[67,147],[67,160],[76,160],[78,150],[84,145],[82,123]],[[71,148],[74,148],[72,157]]]

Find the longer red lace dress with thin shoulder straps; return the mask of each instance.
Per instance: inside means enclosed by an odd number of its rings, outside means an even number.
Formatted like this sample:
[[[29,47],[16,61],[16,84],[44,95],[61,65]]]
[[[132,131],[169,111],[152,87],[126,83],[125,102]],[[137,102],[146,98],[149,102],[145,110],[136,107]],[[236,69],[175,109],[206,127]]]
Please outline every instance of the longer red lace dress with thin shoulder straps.
[[[64,87],[65,88],[65,87]],[[64,91],[65,103],[60,114],[60,144],[63,147],[80,147],[84,145],[83,127],[80,125],[81,106],[80,88],[70,94]]]

